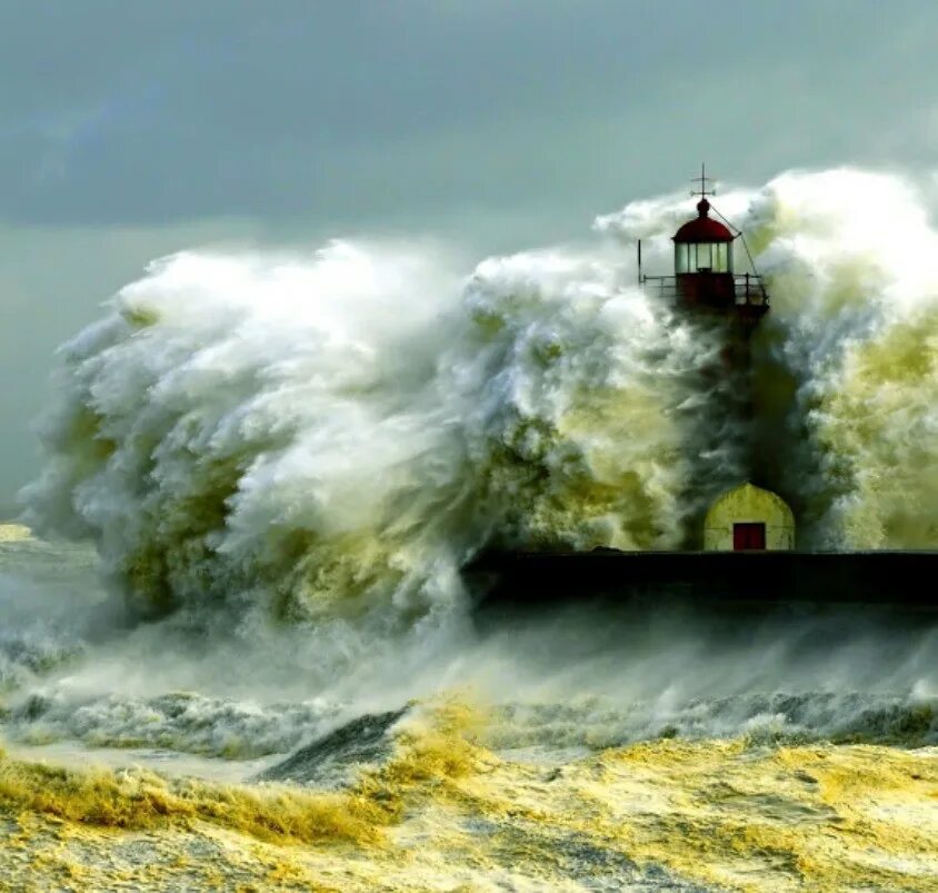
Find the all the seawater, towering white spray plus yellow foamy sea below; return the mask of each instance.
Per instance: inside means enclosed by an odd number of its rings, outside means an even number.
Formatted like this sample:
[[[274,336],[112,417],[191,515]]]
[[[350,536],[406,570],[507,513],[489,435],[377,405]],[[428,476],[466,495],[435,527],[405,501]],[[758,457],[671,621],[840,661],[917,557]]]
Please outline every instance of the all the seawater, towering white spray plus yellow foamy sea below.
[[[719,333],[635,285],[675,196],[468,274],[336,242],[119,292],[0,527],[4,883],[938,890],[938,622],[576,592],[481,622],[460,578],[678,548],[752,438],[805,547],[935,548],[926,199],[842,169],[717,204],[772,295],[748,421]]]

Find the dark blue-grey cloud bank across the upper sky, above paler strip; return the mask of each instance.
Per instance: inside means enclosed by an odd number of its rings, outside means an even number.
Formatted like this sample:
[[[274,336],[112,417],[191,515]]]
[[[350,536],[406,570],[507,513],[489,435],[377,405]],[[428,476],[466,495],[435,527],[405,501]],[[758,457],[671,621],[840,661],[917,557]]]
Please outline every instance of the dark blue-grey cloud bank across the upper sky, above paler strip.
[[[639,169],[673,143],[695,160],[716,143],[734,171],[752,153],[784,163],[792,131],[810,147],[799,161],[841,148],[839,133],[868,155],[897,99],[911,111],[930,96],[909,73],[934,68],[916,36],[938,26],[927,4],[816,0],[14,6],[0,187],[8,218],[41,224],[355,219],[459,201],[480,179],[508,205],[542,189],[538,157],[585,121],[621,122]],[[476,150],[497,155],[506,127],[517,169],[491,181]],[[429,169],[412,163],[425,142],[447,143]],[[579,157],[559,160],[562,180],[588,178]]]

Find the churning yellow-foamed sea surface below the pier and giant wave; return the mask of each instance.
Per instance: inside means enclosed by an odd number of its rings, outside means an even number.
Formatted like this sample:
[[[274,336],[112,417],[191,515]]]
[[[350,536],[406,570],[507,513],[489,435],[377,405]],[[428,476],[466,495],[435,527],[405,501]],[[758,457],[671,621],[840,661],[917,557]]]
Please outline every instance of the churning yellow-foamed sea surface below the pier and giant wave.
[[[938,887],[938,625],[573,606],[326,682],[0,560],[7,889]]]

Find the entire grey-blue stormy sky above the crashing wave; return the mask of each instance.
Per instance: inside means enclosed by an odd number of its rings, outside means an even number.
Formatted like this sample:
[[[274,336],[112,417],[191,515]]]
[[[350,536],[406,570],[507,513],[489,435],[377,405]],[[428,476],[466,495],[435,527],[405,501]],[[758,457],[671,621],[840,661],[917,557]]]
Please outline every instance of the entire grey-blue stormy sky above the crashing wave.
[[[148,260],[433,236],[467,257],[792,167],[935,190],[928,0],[0,0],[0,519],[58,344]],[[875,212],[875,209],[871,209]]]

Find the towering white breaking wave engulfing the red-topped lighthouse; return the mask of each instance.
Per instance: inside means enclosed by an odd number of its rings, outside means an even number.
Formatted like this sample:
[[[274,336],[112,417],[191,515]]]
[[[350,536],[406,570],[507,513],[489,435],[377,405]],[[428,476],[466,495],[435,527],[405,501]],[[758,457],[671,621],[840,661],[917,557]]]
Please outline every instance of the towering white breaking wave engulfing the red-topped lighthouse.
[[[809,547],[938,538],[938,234],[896,176],[790,172],[719,205],[772,312],[755,345],[769,484]],[[599,218],[669,268],[683,199]],[[878,221],[887,219],[890,227]],[[678,548],[744,474],[717,333],[631,250],[428,248],[154,262],[61,351],[29,520],[92,537],[143,614],[211,606],[390,632],[466,599],[490,543]],[[738,427],[738,426],[737,426]],[[772,460],[772,456],[777,460]]]

